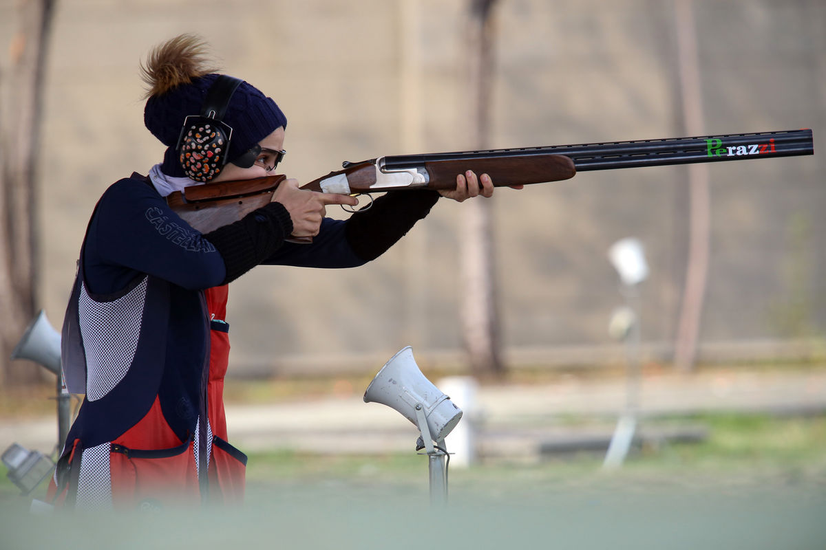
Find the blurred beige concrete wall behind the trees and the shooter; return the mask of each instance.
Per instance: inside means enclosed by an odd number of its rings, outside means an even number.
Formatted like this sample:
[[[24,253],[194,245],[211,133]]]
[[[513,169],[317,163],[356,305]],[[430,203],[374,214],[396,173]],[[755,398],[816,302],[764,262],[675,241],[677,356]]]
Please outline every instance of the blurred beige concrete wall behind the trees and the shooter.
[[[0,7],[4,45],[16,28],[10,3]],[[776,353],[776,343],[826,327],[826,152],[819,139],[826,5],[694,5],[704,133],[815,132],[814,157],[710,166],[704,350]],[[151,46],[179,32],[208,37],[225,72],[278,101],[289,118],[283,169],[302,181],[343,160],[468,147],[464,2],[227,6],[59,2],[39,157],[40,301],[53,324],[62,319],[98,195],[121,176],[146,172],[163,151],[143,127],[137,66]],[[683,135],[672,2],[501,0],[495,16],[491,147]],[[686,181],[684,167],[659,167],[587,172],[497,193],[497,278],[511,361],[616,356],[606,325],[622,298],[606,251],[626,236],[643,240],[652,266],[643,338],[667,356],[686,267]],[[407,344],[425,362],[460,356],[462,214],[461,204],[444,201],[404,242],[359,270],[244,275],[230,300],[236,370],[354,364],[369,371]]]

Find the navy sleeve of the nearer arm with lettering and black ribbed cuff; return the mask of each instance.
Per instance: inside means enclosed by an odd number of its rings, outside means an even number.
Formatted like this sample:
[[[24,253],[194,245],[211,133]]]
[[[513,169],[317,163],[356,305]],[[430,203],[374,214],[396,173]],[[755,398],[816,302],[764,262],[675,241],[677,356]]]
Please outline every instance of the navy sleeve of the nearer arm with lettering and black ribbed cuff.
[[[98,204],[84,267],[89,284],[102,294],[123,288],[138,273],[185,289],[207,289],[259,265],[290,233],[287,209],[270,203],[202,235],[145,181],[121,180]]]

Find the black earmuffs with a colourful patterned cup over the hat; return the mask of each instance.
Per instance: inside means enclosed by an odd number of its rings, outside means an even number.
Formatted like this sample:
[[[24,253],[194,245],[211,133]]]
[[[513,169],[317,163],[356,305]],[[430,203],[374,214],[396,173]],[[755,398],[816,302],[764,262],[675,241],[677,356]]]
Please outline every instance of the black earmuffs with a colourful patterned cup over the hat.
[[[222,119],[232,94],[241,82],[238,78],[221,74],[207,92],[201,115],[190,115],[183,121],[178,138],[178,158],[183,172],[190,179],[210,181],[225,166],[230,153],[232,128]],[[246,156],[244,154],[242,158]]]

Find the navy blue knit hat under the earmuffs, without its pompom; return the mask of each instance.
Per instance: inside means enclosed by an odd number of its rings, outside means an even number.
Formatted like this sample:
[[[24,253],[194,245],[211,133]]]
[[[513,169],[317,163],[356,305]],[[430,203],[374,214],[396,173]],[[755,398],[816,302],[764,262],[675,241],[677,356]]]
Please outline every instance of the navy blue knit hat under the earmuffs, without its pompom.
[[[144,124],[152,134],[167,146],[161,170],[168,176],[186,176],[175,151],[189,115],[200,115],[207,91],[218,75],[207,74],[193,78],[169,92],[150,96],[144,108]],[[232,128],[229,160],[232,162],[249,151],[256,143],[272,134],[279,126],[287,128],[287,117],[272,98],[264,96],[248,82],[240,86],[230,98],[223,121]]]

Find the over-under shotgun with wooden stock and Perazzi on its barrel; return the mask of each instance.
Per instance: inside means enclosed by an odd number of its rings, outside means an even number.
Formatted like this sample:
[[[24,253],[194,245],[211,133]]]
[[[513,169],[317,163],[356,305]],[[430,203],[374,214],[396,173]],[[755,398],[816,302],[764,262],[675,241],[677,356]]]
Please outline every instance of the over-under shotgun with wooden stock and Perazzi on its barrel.
[[[404,189],[449,190],[468,170],[491,176],[493,185],[517,186],[563,181],[577,172],[618,168],[723,162],[814,154],[811,129],[696,138],[643,139],[611,143],[554,145],[377,157],[344,162],[301,186],[325,193],[359,195]],[[286,176],[191,186],[169,195],[170,207],[193,228],[207,233],[267,204]]]

